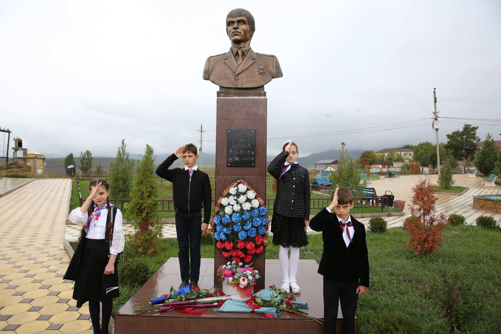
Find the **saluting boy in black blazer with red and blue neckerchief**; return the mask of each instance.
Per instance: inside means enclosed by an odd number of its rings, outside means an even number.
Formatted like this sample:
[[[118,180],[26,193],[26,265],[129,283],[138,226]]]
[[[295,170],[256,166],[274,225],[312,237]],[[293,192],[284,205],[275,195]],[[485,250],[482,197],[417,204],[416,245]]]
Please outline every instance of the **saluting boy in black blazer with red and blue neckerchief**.
[[[353,334],[358,296],[369,286],[365,226],[350,215],[355,203],[348,189],[336,188],[331,200],[331,204],[310,221],[311,229],[321,231],[324,240],[318,268],[324,276],[324,333],[336,333],[341,302],[343,334]]]

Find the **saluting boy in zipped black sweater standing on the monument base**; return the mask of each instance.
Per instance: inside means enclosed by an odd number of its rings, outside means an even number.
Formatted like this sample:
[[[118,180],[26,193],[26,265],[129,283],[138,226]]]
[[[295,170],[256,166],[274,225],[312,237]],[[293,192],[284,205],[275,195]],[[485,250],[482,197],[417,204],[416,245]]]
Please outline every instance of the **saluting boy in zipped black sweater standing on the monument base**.
[[[179,157],[184,168],[169,170],[170,165]],[[172,182],[173,202],[176,209],[176,234],[179,246],[179,267],[182,288],[188,284],[198,285],[200,275],[200,240],[210,221],[212,190],[209,176],[198,170],[196,146],[187,144],[179,147],[157,168],[156,174]],[[203,207],[203,223],[201,209]],[[201,228],[200,228],[201,224]],[[189,249],[189,256],[188,256]],[[190,281],[188,283],[188,280]]]

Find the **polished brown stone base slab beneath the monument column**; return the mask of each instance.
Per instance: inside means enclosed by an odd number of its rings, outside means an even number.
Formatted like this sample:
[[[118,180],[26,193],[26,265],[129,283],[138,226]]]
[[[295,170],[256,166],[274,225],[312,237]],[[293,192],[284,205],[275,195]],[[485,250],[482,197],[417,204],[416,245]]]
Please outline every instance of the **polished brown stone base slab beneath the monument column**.
[[[203,258],[200,266],[201,288],[210,288],[214,282],[214,259]],[[315,260],[299,260],[297,274],[302,293],[296,294],[296,300],[307,302],[308,314],[323,318],[322,297],[323,278],[317,273]],[[266,260],[265,286],[282,284],[282,271],[279,260]],[[133,309],[146,305],[150,297],[159,297],[168,293],[171,286],[180,284],[179,260],[170,258],[165,264],[132,296],[115,314],[115,332],[120,334],[158,334],[158,333],[323,333],[321,324],[307,317],[280,312],[278,318],[267,318],[257,313],[214,312],[209,308],[201,315],[188,315],[178,311],[164,313],[134,314]],[[291,293],[292,294],[292,293]],[[194,311],[202,310],[201,308]],[[337,332],[341,333],[343,316],[338,311]],[[355,320],[357,324],[357,320]]]

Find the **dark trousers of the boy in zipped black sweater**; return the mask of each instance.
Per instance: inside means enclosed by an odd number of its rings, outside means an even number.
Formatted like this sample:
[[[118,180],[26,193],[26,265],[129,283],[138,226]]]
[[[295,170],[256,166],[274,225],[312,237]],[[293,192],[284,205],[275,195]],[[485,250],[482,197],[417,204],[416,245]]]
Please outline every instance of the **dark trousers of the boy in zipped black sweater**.
[[[198,282],[200,276],[200,240],[202,213],[183,214],[176,211],[176,234],[181,281]],[[189,251],[189,253],[188,253]]]

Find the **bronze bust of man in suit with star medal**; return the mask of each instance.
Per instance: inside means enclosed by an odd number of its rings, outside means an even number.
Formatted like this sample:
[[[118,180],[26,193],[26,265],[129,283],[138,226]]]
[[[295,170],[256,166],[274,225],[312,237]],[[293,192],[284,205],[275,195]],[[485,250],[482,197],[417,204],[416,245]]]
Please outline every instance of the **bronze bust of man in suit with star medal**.
[[[256,53],[250,48],[256,27],[248,11],[237,8],[226,16],[228,52],[205,61],[203,79],[222,88],[259,88],[283,76],[277,57]]]

